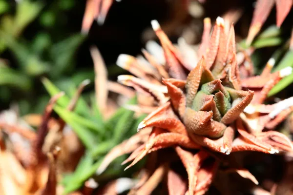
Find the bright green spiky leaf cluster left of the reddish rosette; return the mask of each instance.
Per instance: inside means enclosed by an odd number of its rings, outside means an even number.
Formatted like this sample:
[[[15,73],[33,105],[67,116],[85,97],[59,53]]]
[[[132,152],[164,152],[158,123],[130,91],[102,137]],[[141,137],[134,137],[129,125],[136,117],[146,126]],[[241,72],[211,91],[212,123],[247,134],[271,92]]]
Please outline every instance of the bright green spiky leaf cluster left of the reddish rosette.
[[[48,79],[44,78],[42,82],[50,96],[60,92]],[[138,124],[146,117],[144,115],[135,118],[133,111],[120,108],[112,117],[105,120],[95,102],[92,101],[90,109],[82,97],[79,98],[75,110],[68,111],[66,108],[75,90],[72,90],[71,96],[65,95],[59,98],[57,105],[54,107],[54,111],[67,125],[72,127],[86,148],[86,153],[80,160],[76,171],[72,175],[64,177],[62,182],[65,187],[64,194],[79,189],[85,180],[94,175],[105,154],[114,146],[135,134]],[[135,103],[136,98],[130,99],[128,102],[128,104]],[[124,159],[125,157],[115,160],[112,163],[112,168],[110,166],[103,175],[108,173],[112,173],[112,176],[126,174],[127,172],[123,172],[123,167],[120,166]]]

